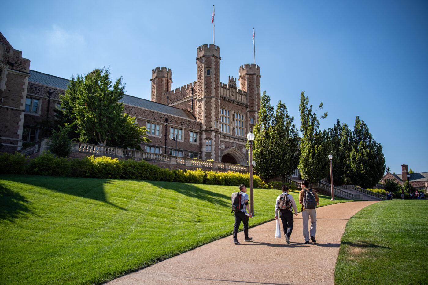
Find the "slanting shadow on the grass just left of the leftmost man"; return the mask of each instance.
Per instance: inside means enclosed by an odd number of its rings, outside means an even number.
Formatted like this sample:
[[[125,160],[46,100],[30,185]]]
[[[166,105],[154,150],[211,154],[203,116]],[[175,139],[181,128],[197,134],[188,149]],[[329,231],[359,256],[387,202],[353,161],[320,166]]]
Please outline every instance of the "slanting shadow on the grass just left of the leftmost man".
[[[177,185],[175,182],[162,182],[162,181],[150,181],[152,185],[166,190],[172,190],[188,197],[194,197],[196,199],[205,200],[209,203],[217,204],[220,206],[228,207],[231,205],[231,197],[225,194],[209,191],[196,187],[195,185],[180,183],[180,188],[172,187],[171,183]],[[220,187],[220,185],[219,185]],[[232,193],[231,193],[232,194]]]

